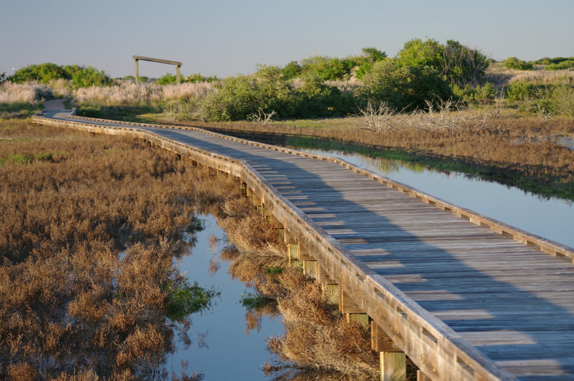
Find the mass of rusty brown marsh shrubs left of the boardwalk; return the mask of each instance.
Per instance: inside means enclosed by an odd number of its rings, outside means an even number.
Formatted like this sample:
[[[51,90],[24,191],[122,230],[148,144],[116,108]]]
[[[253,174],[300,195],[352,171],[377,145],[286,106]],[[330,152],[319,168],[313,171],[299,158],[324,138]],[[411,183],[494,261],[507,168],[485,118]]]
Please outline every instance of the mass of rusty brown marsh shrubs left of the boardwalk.
[[[192,203],[238,197],[236,180],[135,139],[23,120],[0,123],[11,154],[32,159],[0,166],[0,378],[168,378],[189,328],[166,324],[173,257],[198,227]]]

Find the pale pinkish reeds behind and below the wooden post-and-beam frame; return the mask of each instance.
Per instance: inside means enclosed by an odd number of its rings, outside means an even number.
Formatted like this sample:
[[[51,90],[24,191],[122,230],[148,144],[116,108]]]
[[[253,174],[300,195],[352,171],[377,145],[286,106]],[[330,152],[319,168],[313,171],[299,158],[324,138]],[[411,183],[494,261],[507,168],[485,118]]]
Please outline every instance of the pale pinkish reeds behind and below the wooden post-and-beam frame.
[[[212,90],[213,85],[207,82],[159,85],[117,80],[116,84],[108,87],[79,88],[73,91],[72,95],[79,103],[96,103],[99,106],[138,106],[168,100],[195,100]]]

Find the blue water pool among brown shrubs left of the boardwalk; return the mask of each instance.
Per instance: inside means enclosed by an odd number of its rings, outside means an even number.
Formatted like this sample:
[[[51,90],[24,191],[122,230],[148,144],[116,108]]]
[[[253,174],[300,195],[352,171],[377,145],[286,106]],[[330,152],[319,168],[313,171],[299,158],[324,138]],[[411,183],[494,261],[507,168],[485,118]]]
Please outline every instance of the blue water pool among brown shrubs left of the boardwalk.
[[[213,256],[208,250],[208,236],[214,234],[222,239],[224,232],[211,214],[198,213],[197,217],[205,220],[206,227],[197,232],[196,246],[191,255],[182,259],[180,271],[187,271],[190,281],[197,281],[202,287],[215,285],[221,296],[215,299],[216,304],[207,313],[191,315],[193,326],[189,330],[189,337],[193,343],[187,351],[179,348],[168,359],[166,367],[168,371],[179,374],[181,360],[187,360],[188,374],[197,367],[197,371],[205,375],[205,380],[268,380],[261,372],[263,361],[270,359],[265,349],[265,339],[283,333],[281,318],[270,320],[264,317],[261,330],[250,331],[246,335],[245,307],[239,303],[241,294],[246,290],[245,285],[227,274],[227,262],[221,262],[215,275],[208,271]],[[222,247],[221,242],[219,250]],[[198,335],[206,333],[203,339],[205,346],[199,345]]]

